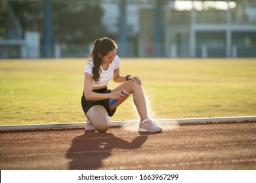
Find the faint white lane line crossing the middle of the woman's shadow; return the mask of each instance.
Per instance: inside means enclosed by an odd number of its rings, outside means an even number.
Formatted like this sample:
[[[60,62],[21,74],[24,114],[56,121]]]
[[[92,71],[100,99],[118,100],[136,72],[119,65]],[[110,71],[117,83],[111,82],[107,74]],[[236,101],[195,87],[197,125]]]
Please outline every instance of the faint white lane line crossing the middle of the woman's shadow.
[[[161,150],[171,150],[175,148],[198,148],[198,147],[209,147],[209,146],[234,146],[234,145],[251,145],[251,144],[256,144],[256,142],[249,142],[249,143],[228,143],[228,144],[196,144],[196,145],[183,145],[183,146],[169,146],[168,148],[161,148],[161,147],[150,147],[150,148],[137,148],[133,149],[135,151],[140,151],[140,150],[156,150],[156,149],[161,149]],[[18,158],[18,157],[34,157],[34,156],[58,156],[61,154],[87,154],[87,153],[102,153],[102,152],[111,152],[112,149],[108,150],[85,150],[85,151],[77,151],[77,152],[53,152],[53,153],[39,153],[39,154],[19,154],[19,155],[8,155],[8,156],[0,156],[0,158]],[[118,149],[120,152],[129,152],[129,149]]]

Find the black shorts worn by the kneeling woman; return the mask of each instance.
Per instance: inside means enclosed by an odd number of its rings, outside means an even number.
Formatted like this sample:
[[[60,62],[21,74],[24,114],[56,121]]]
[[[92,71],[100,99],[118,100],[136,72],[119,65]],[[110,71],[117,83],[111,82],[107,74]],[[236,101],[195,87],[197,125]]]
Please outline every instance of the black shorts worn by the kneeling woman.
[[[102,88],[102,89],[98,89],[98,90],[93,90],[93,92],[110,93],[111,90],[108,88]],[[114,110],[110,111],[109,101],[110,101],[109,99],[104,99],[101,101],[87,101],[85,99],[85,93],[83,92],[83,96],[81,97],[81,105],[83,108],[83,112],[85,112],[85,116],[86,116],[86,113],[88,112],[88,110],[95,105],[102,105],[104,108],[106,108],[106,111],[108,112],[108,116],[110,116],[110,117],[113,116],[114,113],[116,112],[116,108]]]

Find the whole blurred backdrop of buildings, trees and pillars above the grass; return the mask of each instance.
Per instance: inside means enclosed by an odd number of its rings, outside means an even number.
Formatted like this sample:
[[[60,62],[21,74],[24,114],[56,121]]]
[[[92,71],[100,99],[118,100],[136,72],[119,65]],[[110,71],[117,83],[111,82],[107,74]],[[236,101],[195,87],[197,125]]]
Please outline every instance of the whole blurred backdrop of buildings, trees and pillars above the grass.
[[[255,58],[256,0],[0,0],[0,58]]]

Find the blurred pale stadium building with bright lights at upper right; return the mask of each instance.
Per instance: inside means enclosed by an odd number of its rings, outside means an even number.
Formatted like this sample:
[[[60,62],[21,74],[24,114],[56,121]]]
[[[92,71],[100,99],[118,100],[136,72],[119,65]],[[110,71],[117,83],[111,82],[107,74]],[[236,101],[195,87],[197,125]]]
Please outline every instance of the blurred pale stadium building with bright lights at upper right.
[[[140,57],[256,56],[256,1],[163,3],[160,15],[157,10],[140,11]],[[145,21],[157,18],[158,25]],[[162,35],[160,42],[156,42],[156,31]]]

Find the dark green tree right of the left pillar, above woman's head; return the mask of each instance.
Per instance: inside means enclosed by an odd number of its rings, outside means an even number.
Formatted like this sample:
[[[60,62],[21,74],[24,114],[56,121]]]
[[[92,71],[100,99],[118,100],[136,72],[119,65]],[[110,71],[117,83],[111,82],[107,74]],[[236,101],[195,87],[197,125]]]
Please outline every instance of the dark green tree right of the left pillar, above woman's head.
[[[103,14],[98,1],[54,3],[54,39],[72,44],[94,41],[106,33],[104,25],[101,24]]]

